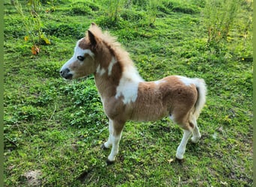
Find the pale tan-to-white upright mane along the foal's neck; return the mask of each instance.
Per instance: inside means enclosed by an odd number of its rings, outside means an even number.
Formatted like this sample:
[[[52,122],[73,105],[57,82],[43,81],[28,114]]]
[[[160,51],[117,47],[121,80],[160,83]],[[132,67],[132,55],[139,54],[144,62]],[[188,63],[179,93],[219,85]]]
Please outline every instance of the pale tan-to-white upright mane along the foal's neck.
[[[138,70],[136,69],[132,59],[129,58],[129,52],[121,46],[121,43],[117,41],[117,37],[113,37],[108,31],[103,32],[95,24],[91,24],[89,30],[94,34],[94,37],[97,37],[98,40],[102,41],[106,45],[112,55],[115,56],[118,63],[121,64],[124,73],[123,76],[134,81],[143,81],[141,76],[138,74]]]

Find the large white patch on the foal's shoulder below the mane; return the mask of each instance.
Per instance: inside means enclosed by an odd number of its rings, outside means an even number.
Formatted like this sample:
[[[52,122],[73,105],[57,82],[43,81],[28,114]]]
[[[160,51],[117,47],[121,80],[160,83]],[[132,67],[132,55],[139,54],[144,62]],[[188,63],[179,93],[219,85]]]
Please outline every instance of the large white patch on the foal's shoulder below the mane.
[[[134,67],[127,68],[119,81],[115,98],[124,96],[124,104],[135,102],[138,97],[138,84],[140,82],[143,82],[143,79],[138,75],[137,70]]]

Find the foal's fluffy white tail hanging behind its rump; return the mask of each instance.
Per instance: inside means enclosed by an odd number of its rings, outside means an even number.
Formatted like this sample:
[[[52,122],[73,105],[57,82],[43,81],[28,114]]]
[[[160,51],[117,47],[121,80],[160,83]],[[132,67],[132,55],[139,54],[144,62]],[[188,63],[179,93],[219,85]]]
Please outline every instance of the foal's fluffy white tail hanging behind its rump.
[[[207,87],[204,82],[204,79],[195,78],[194,80],[196,90],[198,91],[198,99],[195,102],[195,111],[193,112],[193,114],[197,119],[199,114],[201,113],[202,108],[204,107],[204,103],[206,102]]]

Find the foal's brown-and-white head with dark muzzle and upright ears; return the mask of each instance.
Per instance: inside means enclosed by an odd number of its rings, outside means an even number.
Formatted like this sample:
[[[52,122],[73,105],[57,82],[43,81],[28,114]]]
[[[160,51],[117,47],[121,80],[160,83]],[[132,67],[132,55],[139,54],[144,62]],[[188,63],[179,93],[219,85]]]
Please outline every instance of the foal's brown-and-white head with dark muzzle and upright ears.
[[[92,23],[92,27],[97,26]],[[87,35],[76,43],[73,57],[61,67],[61,76],[71,80],[94,73],[98,65],[95,61],[96,48],[97,38],[89,29]]]

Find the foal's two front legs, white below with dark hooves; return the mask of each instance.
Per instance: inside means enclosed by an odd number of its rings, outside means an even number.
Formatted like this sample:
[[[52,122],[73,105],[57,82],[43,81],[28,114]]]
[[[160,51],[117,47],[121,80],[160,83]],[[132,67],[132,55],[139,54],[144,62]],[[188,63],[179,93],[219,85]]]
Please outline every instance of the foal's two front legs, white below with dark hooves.
[[[110,147],[112,145],[112,150],[107,160],[108,164],[112,164],[115,162],[115,156],[118,155],[119,142],[121,140],[122,131],[124,128],[124,122],[116,120],[109,121],[109,140],[106,141],[104,147]]]

